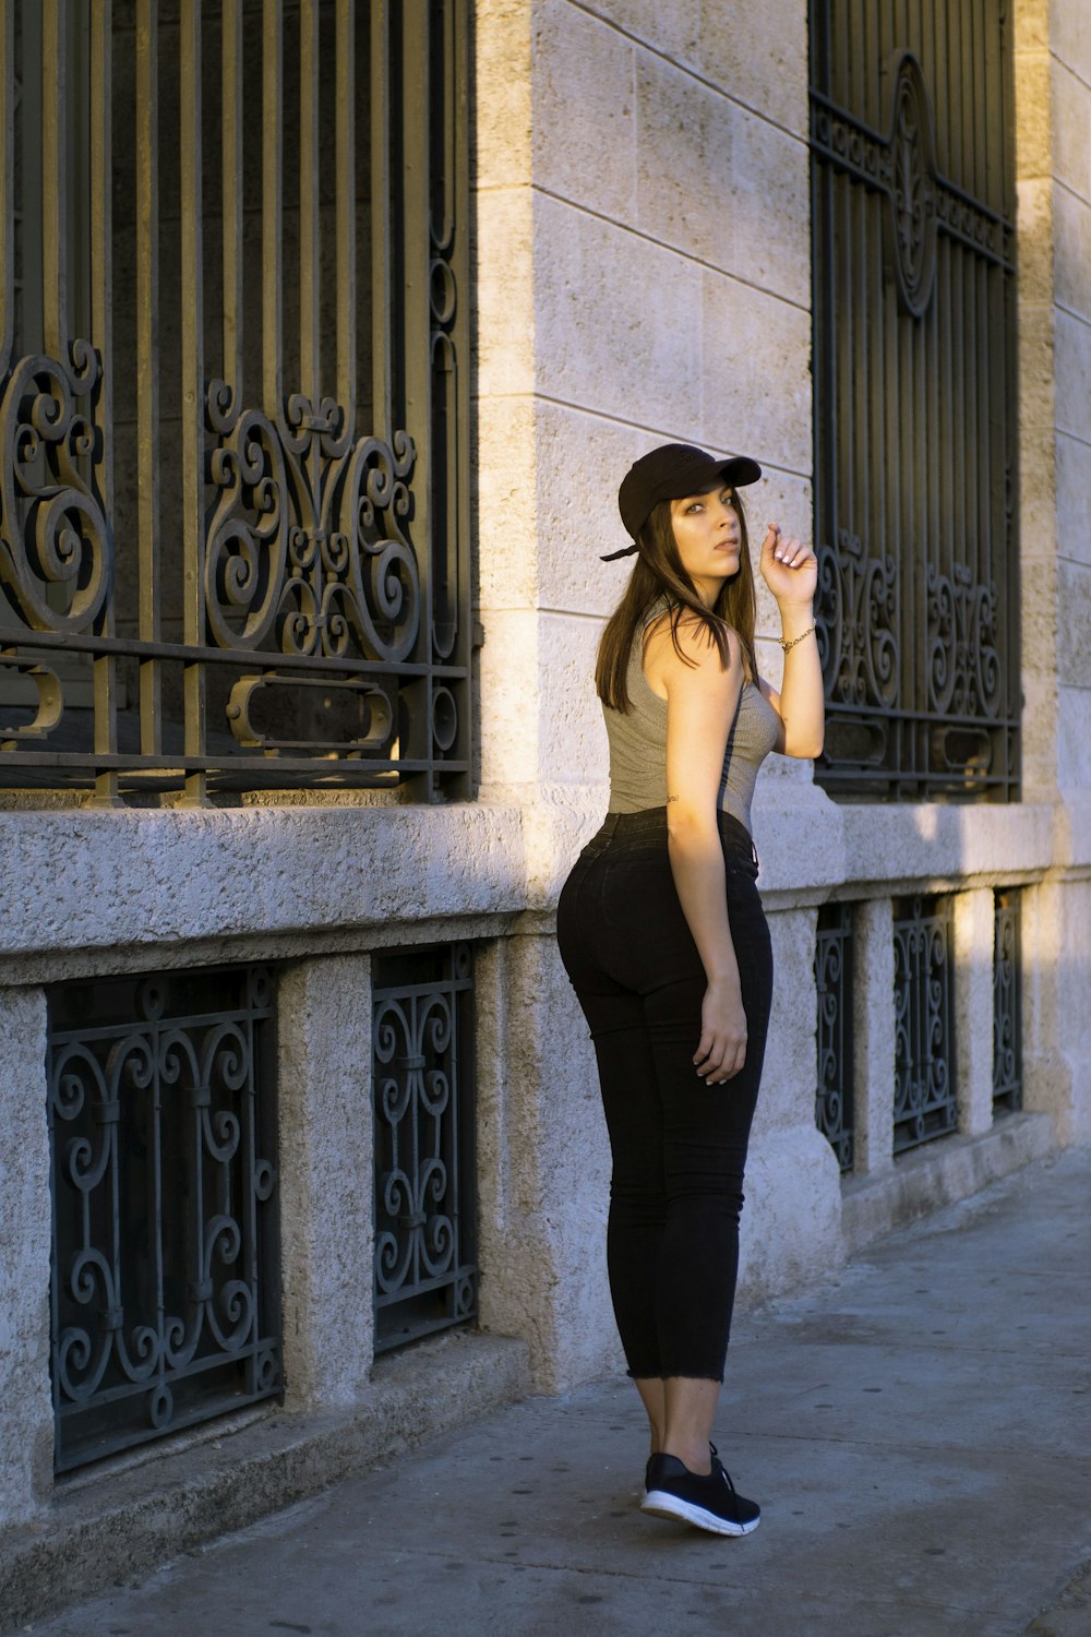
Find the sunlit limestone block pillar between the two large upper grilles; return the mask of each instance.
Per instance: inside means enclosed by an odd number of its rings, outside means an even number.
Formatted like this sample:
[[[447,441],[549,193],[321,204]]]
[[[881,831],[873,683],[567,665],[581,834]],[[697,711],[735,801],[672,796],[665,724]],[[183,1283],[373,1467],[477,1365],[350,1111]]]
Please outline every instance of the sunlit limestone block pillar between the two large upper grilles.
[[[626,568],[599,553],[638,453],[752,450],[756,521],[810,517],[805,8],[744,47],[698,10],[478,10],[486,796],[602,782],[590,656]]]

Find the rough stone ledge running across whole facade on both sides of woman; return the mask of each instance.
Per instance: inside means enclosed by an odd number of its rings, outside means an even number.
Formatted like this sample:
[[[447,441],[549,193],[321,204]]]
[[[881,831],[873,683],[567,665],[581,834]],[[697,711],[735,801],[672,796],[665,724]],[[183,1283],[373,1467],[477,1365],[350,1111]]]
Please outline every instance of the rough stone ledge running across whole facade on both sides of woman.
[[[443,936],[481,936],[496,918],[553,909],[605,810],[602,786],[496,797],[451,807],[0,814],[8,882],[0,981],[149,961],[276,959],[455,922]],[[927,891],[1083,869],[1091,864],[1084,820],[1091,814],[1080,807],[1047,804],[836,805],[792,776],[764,782],[754,810],[770,909],[821,902],[854,884]],[[795,897],[782,904],[779,894]],[[65,964],[74,954],[80,961]]]

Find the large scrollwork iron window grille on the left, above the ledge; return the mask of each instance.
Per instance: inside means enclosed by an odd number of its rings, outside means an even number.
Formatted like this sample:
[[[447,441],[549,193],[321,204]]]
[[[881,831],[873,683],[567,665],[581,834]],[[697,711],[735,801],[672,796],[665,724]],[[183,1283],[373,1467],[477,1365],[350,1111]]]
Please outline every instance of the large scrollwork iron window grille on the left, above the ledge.
[[[0,0],[0,784],[468,794],[468,23]]]

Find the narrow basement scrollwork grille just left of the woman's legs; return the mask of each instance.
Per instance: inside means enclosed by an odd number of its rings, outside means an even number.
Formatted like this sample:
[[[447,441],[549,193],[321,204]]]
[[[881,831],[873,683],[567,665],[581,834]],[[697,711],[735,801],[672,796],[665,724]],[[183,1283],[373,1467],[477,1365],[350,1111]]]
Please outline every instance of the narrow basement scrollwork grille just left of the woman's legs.
[[[375,958],[375,1351],[478,1311],[473,949]]]

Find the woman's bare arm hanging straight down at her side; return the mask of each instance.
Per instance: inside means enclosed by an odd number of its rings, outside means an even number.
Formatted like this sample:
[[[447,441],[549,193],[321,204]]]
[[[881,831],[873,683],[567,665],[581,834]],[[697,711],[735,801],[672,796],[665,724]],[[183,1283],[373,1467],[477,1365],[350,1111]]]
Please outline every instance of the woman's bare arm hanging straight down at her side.
[[[707,977],[694,1066],[698,1076],[718,1085],[738,1074],[746,1061],[746,1013],[716,823],[723,755],[743,686],[743,663],[734,634],[726,670],[695,620],[682,620],[679,640],[692,666],[679,658],[669,630],[662,629],[651,638],[646,671],[649,683],[667,696],[667,851],[679,904]]]

